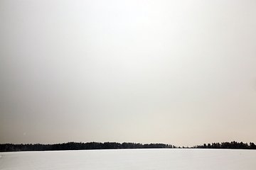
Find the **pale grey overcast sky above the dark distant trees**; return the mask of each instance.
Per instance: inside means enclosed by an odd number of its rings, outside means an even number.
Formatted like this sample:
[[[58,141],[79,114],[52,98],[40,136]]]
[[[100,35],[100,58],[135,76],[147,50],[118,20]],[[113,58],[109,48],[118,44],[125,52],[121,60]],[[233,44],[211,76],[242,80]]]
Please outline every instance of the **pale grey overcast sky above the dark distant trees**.
[[[1,1],[0,143],[256,142],[256,1]]]

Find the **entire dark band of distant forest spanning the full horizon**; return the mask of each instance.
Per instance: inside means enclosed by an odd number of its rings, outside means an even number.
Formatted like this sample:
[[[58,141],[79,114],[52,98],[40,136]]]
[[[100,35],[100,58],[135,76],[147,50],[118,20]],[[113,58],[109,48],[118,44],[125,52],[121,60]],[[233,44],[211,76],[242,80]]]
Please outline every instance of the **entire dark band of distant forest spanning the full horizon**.
[[[194,147],[176,147],[169,144],[140,144],[132,142],[68,142],[62,144],[0,144],[0,152],[17,152],[17,151],[48,151],[48,150],[80,150],[80,149],[143,149],[143,148],[210,148],[210,149],[256,149],[253,142],[250,145],[243,142],[221,142],[212,144],[197,145]]]

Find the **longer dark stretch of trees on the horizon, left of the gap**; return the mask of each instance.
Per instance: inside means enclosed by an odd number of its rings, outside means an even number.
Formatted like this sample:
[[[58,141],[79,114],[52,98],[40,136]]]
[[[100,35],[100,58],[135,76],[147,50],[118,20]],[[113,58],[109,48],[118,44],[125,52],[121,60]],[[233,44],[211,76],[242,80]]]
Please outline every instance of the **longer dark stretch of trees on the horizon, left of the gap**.
[[[176,148],[174,145],[168,144],[140,144],[132,142],[68,142],[62,144],[0,144],[0,152],[15,151],[47,151],[47,150],[80,150],[80,149],[142,149],[142,148]]]

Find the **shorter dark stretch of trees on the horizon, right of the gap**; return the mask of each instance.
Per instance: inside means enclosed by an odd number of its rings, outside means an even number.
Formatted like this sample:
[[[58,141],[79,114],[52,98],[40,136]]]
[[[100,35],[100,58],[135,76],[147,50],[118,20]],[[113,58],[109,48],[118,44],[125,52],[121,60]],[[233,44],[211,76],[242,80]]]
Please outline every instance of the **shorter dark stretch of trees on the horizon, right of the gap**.
[[[253,142],[250,142],[248,145],[247,143],[243,142],[217,142],[217,143],[208,143],[208,145],[203,144],[203,145],[197,145],[193,148],[208,148],[208,149],[256,149],[256,145]]]

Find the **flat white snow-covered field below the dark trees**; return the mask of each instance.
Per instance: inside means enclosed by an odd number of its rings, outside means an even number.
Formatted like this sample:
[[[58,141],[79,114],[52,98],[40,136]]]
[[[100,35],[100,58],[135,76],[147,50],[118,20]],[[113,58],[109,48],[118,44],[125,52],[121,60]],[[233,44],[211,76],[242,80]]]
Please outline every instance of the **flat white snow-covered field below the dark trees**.
[[[256,169],[256,150],[108,149],[0,152],[0,169]]]

